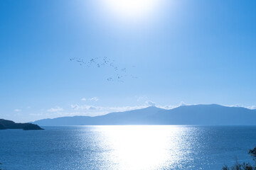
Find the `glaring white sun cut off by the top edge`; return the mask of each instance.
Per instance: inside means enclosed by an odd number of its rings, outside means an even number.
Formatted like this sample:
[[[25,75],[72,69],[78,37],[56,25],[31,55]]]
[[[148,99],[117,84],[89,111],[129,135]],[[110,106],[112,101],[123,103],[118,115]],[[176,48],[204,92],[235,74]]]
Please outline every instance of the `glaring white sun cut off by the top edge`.
[[[111,13],[123,18],[148,16],[159,4],[157,0],[105,0],[104,2]]]

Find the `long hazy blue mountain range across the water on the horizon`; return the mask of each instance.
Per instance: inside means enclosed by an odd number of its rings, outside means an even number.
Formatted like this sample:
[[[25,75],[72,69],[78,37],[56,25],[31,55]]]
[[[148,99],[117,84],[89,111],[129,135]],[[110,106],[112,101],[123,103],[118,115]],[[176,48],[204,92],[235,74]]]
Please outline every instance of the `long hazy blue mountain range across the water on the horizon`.
[[[256,111],[220,105],[149,107],[95,117],[74,116],[37,120],[38,125],[256,125]]]

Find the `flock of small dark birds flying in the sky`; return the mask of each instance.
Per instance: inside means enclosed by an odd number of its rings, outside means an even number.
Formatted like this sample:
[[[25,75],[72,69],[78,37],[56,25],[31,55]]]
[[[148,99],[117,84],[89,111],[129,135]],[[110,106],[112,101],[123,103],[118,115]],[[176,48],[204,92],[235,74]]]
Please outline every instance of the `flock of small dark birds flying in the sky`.
[[[82,60],[81,58],[78,58],[78,57],[74,57],[74,58],[71,58],[70,61],[71,62],[73,62],[73,61],[78,62],[81,66],[85,66],[85,67],[92,67],[93,65],[95,65],[98,68],[100,68],[100,67],[111,67],[112,69],[114,69],[114,76],[108,77],[107,81],[123,82],[124,77],[132,77],[133,79],[137,79],[136,76],[127,73],[127,68],[119,69],[119,67],[117,67],[114,64],[114,60],[110,60],[107,57],[95,57],[95,58],[92,58],[92,59],[87,60],[87,61]]]

